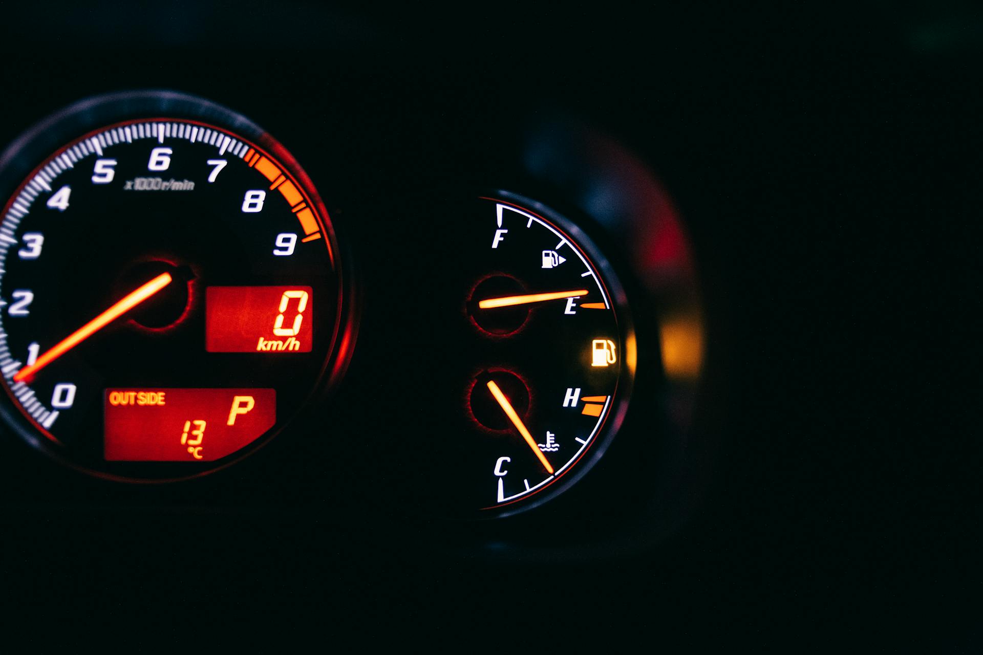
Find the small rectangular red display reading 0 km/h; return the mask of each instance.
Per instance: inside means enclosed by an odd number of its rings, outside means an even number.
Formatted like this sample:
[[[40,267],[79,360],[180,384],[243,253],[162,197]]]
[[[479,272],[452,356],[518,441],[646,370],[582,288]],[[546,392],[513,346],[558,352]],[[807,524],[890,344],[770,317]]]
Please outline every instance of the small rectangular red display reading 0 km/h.
[[[207,287],[204,350],[208,353],[310,353],[311,287]]]

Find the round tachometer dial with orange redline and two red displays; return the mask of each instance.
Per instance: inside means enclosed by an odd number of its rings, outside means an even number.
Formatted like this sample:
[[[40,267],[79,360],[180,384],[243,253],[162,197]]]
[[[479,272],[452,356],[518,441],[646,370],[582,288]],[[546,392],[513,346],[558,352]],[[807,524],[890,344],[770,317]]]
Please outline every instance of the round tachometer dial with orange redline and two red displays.
[[[343,356],[326,212],[246,119],[174,94],[91,101],[0,176],[0,408],[47,452],[200,474],[278,432]]]

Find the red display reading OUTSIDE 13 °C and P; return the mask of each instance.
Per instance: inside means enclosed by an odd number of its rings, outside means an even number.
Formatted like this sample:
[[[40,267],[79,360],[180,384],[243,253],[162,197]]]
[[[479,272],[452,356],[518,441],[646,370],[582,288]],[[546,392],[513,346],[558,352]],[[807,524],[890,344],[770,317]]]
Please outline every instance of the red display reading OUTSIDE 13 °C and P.
[[[276,423],[274,389],[107,389],[110,462],[212,462]]]

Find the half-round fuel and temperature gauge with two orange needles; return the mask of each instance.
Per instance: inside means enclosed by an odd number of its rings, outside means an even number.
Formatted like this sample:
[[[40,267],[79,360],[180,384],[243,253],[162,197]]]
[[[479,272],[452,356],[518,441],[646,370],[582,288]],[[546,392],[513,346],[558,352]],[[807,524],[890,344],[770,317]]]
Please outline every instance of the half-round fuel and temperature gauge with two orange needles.
[[[508,194],[476,209],[473,261],[484,270],[472,272],[465,307],[494,360],[476,369],[467,410],[476,500],[504,513],[549,497],[601,456],[634,353],[620,286],[583,233]]]

